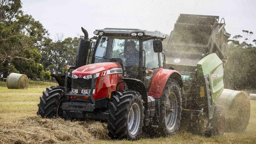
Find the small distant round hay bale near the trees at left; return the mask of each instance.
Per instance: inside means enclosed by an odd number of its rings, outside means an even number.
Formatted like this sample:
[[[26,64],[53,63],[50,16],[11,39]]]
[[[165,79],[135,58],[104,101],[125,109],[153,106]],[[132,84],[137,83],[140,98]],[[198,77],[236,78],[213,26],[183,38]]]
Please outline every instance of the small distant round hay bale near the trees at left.
[[[28,77],[24,74],[11,73],[7,77],[6,85],[8,89],[27,89]]]

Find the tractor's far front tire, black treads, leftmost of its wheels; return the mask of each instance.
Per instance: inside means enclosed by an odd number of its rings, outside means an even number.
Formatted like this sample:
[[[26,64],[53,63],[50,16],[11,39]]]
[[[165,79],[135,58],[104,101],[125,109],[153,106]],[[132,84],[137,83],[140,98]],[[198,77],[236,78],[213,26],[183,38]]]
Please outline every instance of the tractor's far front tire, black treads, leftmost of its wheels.
[[[62,103],[68,102],[64,96],[64,87],[50,87],[43,91],[38,104],[37,115],[42,118],[66,118],[62,110]]]

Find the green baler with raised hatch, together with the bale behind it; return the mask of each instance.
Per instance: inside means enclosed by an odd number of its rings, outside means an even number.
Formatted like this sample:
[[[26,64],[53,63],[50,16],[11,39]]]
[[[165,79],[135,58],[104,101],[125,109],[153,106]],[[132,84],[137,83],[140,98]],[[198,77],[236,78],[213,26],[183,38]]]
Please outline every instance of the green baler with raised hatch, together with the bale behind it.
[[[244,131],[249,122],[247,94],[224,89],[230,37],[224,26],[218,16],[180,14],[165,48],[167,66],[178,70],[184,83],[181,126],[198,134]]]

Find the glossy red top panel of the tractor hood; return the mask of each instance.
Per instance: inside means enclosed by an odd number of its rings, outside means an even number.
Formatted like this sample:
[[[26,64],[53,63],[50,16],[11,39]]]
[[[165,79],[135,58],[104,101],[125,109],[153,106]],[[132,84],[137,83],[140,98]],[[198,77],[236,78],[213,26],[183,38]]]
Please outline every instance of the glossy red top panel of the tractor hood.
[[[90,65],[84,65],[72,72],[72,74],[78,75],[82,74],[83,76],[89,74],[96,74],[110,68],[121,68],[122,66],[119,63],[93,63]]]

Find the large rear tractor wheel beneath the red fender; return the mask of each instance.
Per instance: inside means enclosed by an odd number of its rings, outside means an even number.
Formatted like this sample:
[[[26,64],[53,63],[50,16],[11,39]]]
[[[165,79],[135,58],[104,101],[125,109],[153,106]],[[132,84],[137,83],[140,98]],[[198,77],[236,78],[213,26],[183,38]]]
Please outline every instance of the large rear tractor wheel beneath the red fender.
[[[160,98],[160,120],[156,132],[160,136],[172,135],[180,127],[182,98],[180,85],[174,79],[167,81]]]

